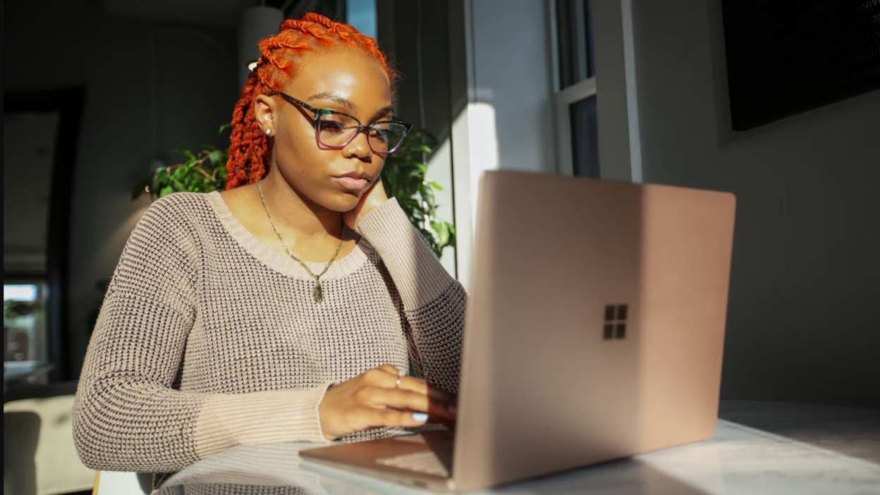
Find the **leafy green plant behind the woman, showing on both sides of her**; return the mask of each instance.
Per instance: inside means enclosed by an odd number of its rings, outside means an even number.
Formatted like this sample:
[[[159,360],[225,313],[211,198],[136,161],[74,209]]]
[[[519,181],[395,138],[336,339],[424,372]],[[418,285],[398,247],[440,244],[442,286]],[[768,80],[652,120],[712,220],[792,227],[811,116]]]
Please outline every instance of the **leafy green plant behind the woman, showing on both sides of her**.
[[[220,132],[228,128],[229,124],[224,124]],[[388,196],[397,198],[410,223],[422,233],[434,255],[439,258],[444,247],[455,245],[455,225],[436,218],[434,191],[443,189],[436,182],[425,180],[425,174],[428,173],[425,161],[432,151],[426,142],[433,144],[434,141],[426,133],[411,133],[400,148],[385,159],[382,182]],[[204,148],[198,153],[175,151],[187,160],[157,168],[149,177],[139,181],[132,191],[132,200],[144,193],[157,199],[175,192],[209,193],[223,190],[229,149],[209,145]]]

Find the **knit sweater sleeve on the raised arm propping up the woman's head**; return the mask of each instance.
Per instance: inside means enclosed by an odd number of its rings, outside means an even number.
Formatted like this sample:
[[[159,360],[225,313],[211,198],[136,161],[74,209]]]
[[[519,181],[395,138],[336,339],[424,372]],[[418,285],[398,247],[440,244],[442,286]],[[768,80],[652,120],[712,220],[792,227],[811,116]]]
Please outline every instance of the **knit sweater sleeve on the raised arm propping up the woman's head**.
[[[431,385],[458,393],[467,295],[409,223],[396,199],[370,211],[358,233],[385,262],[403,303],[410,356]]]

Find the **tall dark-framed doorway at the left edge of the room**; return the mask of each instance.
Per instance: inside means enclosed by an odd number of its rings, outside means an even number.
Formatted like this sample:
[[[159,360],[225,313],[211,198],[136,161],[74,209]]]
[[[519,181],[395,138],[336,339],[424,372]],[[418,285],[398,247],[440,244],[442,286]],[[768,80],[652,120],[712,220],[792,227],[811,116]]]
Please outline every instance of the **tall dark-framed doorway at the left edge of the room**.
[[[68,239],[84,94],[4,94],[4,363],[51,365],[53,381],[74,378]]]

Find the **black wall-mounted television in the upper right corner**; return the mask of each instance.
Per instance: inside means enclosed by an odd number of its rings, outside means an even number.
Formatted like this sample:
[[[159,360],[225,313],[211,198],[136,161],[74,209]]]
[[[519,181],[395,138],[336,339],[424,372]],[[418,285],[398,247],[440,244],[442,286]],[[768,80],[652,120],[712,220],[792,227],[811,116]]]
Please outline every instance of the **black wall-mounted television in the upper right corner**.
[[[722,0],[722,15],[733,129],[880,88],[880,0]]]

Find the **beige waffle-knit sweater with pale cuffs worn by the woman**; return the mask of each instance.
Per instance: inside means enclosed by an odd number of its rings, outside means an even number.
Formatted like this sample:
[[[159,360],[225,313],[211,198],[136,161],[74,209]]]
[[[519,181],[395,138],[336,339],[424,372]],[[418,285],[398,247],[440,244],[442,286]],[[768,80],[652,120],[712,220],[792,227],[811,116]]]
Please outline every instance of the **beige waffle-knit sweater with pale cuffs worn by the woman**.
[[[326,442],[326,388],[385,363],[406,370],[411,359],[429,383],[457,393],[461,285],[393,199],[357,234],[355,250],[321,277],[316,303],[312,277],[249,233],[219,193],[153,203],[85,357],[73,418],[82,461],[170,472],[238,444]]]

